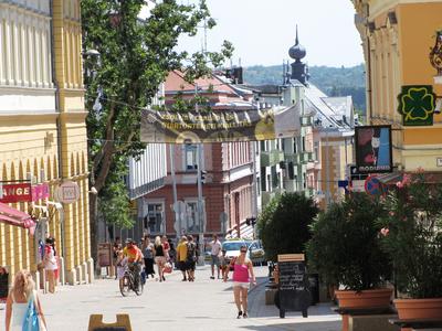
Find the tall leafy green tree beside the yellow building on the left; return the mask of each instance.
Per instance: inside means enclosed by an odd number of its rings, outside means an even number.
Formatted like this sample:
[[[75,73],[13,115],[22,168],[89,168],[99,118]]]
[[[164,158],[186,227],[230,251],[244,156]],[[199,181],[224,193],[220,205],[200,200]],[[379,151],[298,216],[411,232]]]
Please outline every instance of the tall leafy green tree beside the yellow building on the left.
[[[82,0],[84,54],[99,52],[99,62],[86,56],[84,64],[86,73],[93,73],[85,75],[86,122],[91,185],[98,192],[90,203],[93,256],[98,199],[105,201],[99,210],[109,217],[107,222],[131,226],[127,190],[122,188],[128,158],[145,149],[139,141],[141,109],[151,103],[170,71],[180,70],[192,81],[209,74],[209,65],[219,66],[232,53],[229,42],[220,53],[176,50],[178,39],[196,35],[201,22],[214,26],[203,0],[198,6],[164,0],[146,20],[138,18],[143,6],[144,0]],[[102,107],[93,107],[98,89]]]

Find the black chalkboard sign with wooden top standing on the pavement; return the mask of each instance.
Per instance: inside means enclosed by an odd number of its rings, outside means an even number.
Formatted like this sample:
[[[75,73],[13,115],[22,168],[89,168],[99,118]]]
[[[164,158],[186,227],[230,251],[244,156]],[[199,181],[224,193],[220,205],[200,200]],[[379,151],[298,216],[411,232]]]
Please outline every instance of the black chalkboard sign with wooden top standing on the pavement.
[[[304,255],[280,255],[277,267],[280,282],[275,305],[280,309],[280,317],[284,318],[286,311],[302,311],[306,318],[312,295]]]

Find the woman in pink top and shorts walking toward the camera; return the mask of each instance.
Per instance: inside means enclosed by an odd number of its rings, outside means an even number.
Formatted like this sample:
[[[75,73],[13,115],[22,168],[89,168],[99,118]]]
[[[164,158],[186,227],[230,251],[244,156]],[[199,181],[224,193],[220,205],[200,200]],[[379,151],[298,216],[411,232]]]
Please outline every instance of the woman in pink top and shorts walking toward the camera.
[[[234,301],[238,308],[238,317],[248,318],[248,293],[250,288],[250,278],[252,278],[252,285],[256,285],[255,275],[253,273],[253,264],[246,257],[248,246],[242,245],[240,248],[240,255],[232,259],[233,265],[233,295]],[[230,268],[228,268],[230,269]],[[225,273],[224,281],[229,270]]]

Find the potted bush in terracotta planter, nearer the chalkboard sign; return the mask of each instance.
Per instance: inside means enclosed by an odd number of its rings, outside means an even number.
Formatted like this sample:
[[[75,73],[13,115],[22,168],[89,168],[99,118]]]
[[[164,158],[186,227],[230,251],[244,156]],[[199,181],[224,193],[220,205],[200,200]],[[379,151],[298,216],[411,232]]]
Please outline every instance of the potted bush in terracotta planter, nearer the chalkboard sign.
[[[376,215],[383,212],[379,199],[352,193],[332,204],[312,225],[308,265],[335,290],[340,308],[388,308],[392,290],[385,288],[391,267],[381,250]],[[343,316],[343,330],[348,317]]]

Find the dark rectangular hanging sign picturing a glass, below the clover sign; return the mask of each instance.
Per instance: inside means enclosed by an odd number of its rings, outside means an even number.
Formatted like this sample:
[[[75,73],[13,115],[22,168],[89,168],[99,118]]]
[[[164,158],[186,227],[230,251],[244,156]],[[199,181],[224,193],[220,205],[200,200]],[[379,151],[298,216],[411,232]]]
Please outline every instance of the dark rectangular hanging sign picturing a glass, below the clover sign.
[[[356,127],[355,138],[358,173],[392,171],[390,126]]]

